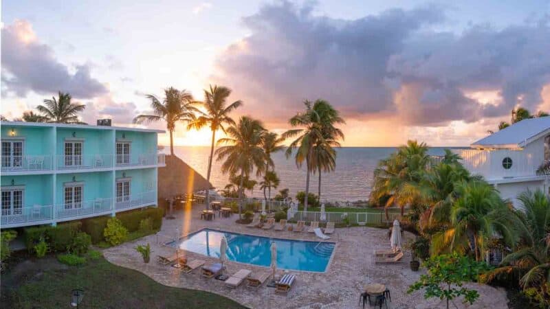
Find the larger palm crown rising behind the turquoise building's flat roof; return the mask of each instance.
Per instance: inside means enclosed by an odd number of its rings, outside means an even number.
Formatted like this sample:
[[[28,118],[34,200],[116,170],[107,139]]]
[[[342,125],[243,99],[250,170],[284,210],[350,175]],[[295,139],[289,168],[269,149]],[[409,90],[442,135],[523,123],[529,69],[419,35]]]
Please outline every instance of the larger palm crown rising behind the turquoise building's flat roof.
[[[44,117],[44,122],[57,124],[86,124],[78,119],[78,113],[84,111],[84,104],[72,103],[71,95],[59,91],[58,98],[44,100],[44,105],[36,106],[36,109]]]

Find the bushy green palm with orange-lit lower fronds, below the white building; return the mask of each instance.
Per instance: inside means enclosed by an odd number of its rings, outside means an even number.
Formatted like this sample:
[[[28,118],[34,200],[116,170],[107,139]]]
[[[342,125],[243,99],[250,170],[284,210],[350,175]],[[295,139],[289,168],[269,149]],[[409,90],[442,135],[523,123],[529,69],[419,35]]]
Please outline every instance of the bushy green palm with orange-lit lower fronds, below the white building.
[[[516,243],[513,214],[492,185],[474,179],[459,183],[456,190],[450,227],[432,238],[434,253],[469,249],[479,261],[487,240],[497,235],[510,246]]]

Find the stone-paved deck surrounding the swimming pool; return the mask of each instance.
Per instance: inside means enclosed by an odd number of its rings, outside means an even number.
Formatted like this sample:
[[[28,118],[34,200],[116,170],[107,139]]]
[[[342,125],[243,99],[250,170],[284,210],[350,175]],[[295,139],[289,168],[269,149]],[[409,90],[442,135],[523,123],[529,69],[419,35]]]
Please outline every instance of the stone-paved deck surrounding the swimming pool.
[[[200,220],[200,206],[187,214],[184,211],[177,211],[175,220],[164,220],[162,231],[159,234],[167,236],[146,236],[140,240],[126,242],[118,247],[105,249],[105,258],[126,268],[140,271],[155,281],[166,286],[206,290],[217,293],[230,299],[238,301],[249,308],[362,308],[358,306],[360,293],[365,284],[385,284],[391,290],[392,301],[388,308],[444,308],[445,305],[439,299],[423,299],[423,293],[417,291],[410,295],[406,294],[408,286],[415,282],[423,271],[412,272],[408,266],[410,255],[406,255],[400,264],[375,264],[373,251],[375,249],[388,249],[389,240],[386,229],[375,229],[371,227],[351,227],[336,229],[331,236],[330,242],[336,242],[333,259],[327,268],[326,273],[309,273],[300,271],[289,271],[296,275],[292,290],[287,295],[274,293],[274,288],[262,286],[258,289],[245,287],[245,284],[238,288],[226,288],[223,282],[216,279],[203,279],[200,277],[200,270],[184,274],[171,266],[163,266],[155,262],[157,255],[171,255],[175,252],[173,247],[162,245],[179,235],[186,235],[203,228],[221,229],[236,233],[248,233],[257,236],[274,238],[288,238],[293,240],[320,241],[314,233],[293,231],[274,231],[257,228],[248,228],[238,225],[235,220],[237,215],[231,218],[219,218],[215,220]],[[404,242],[411,240],[412,234],[405,233]],[[144,264],[140,254],[134,247],[137,244],[151,244],[151,263]],[[157,243],[158,242],[158,243]],[[201,259],[208,262],[217,262],[215,258],[208,258],[198,253],[185,252],[190,260]],[[269,271],[269,268],[227,262],[226,274],[236,273],[241,268],[249,269],[252,272]],[[278,270],[278,274],[283,271]],[[479,299],[472,306],[461,304],[456,299],[454,303],[457,308],[507,308],[507,297],[502,288],[493,288],[483,284],[467,284],[476,288],[480,293]]]

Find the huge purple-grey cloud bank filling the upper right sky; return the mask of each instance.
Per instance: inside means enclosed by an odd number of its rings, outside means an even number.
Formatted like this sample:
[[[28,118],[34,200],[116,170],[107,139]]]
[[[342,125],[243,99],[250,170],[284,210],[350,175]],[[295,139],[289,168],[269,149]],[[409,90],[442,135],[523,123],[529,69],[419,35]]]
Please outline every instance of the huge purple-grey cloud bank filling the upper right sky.
[[[533,108],[550,84],[546,23],[502,30],[437,29],[441,8],[387,10],[360,19],[312,14],[282,2],[245,17],[249,36],[216,61],[214,82],[234,89],[243,111],[267,122],[288,119],[305,99],[325,98],[352,119],[396,116],[410,126],[442,126]],[[499,94],[485,104],[475,91]]]

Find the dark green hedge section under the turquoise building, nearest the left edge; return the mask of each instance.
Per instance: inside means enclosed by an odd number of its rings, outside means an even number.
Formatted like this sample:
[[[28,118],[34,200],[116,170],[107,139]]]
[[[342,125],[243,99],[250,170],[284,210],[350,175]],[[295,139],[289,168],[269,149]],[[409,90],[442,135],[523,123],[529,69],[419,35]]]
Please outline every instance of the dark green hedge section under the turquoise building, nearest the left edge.
[[[32,250],[34,245],[44,238],[52,251],[66,251],[72,244],[74,236],[80,231],[80,221],[66,222],[52,226],[28,227],[23,230],[25,246]]]

